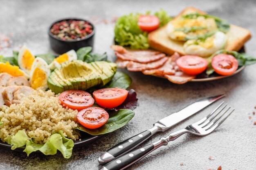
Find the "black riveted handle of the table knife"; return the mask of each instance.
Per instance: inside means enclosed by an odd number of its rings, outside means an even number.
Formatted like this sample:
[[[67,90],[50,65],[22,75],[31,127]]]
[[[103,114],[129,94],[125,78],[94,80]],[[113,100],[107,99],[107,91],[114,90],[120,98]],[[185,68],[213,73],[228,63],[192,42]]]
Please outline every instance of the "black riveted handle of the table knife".
[[[135,148],[142,142],[144,142],[150,136],[151,136],[151,132],[146,130],[142,133],[139,133],[139,134],[137,134],[133,137],[130,137],[129,139],[126,139],[125,141],[117,144],[116,146],[107,150],[107,152],[110,153],[115,158],[119,157],[119,156],[123,155],[124,153],[127,153],[128,151],[132,150],[133,148]]]

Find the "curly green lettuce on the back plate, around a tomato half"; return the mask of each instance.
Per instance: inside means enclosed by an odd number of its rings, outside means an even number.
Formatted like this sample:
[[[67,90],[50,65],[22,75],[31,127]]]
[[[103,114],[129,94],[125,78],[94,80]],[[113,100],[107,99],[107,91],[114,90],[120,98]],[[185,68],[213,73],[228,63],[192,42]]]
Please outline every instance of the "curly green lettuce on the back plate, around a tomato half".
[[[150,14],[150,12],[146,12]],[[130,13],[119,17],[115,24],[115,43],[120,46],[130,46],[132,49],[147,49],[148,44],[148,33],[142,31],[137,22],[141,13]],[[160,10],[154,13],[159,18],[159,26],[167,24],[171,17],[167,15],[166,11]]]

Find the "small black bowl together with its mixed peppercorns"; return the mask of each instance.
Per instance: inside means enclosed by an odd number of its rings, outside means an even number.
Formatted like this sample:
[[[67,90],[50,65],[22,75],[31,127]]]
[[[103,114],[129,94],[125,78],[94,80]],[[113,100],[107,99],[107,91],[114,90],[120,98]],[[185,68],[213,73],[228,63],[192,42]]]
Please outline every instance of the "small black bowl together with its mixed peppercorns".
[[[57,20],[48,29],[50,46],[58,54],[86,46],[93,47],[94,33],[94,25],[79,18]]]

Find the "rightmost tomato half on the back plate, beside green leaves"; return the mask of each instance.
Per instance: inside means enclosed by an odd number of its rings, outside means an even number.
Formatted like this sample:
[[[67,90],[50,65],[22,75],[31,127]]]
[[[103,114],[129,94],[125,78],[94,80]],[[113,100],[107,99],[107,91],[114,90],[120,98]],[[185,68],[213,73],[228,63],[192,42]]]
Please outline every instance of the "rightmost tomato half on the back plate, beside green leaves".
[[[211,65],[216,73],[228,76],[237,70],[238,61],[232,55],[218,54],[211,59]]]

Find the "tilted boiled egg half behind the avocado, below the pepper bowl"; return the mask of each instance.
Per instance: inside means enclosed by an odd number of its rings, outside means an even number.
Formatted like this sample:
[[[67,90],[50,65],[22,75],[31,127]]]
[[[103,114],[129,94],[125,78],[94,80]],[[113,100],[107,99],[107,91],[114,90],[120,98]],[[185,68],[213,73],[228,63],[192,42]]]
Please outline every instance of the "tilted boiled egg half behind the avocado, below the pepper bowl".
[[[61,63],[65,61],[73,61],[77,60],[77,55],[75,50],[70,50],[64,54],[59,55],[52,63],[49,65],[49,68],[51,70],[54,70],[56,68],[59,68],[61,66]]]

